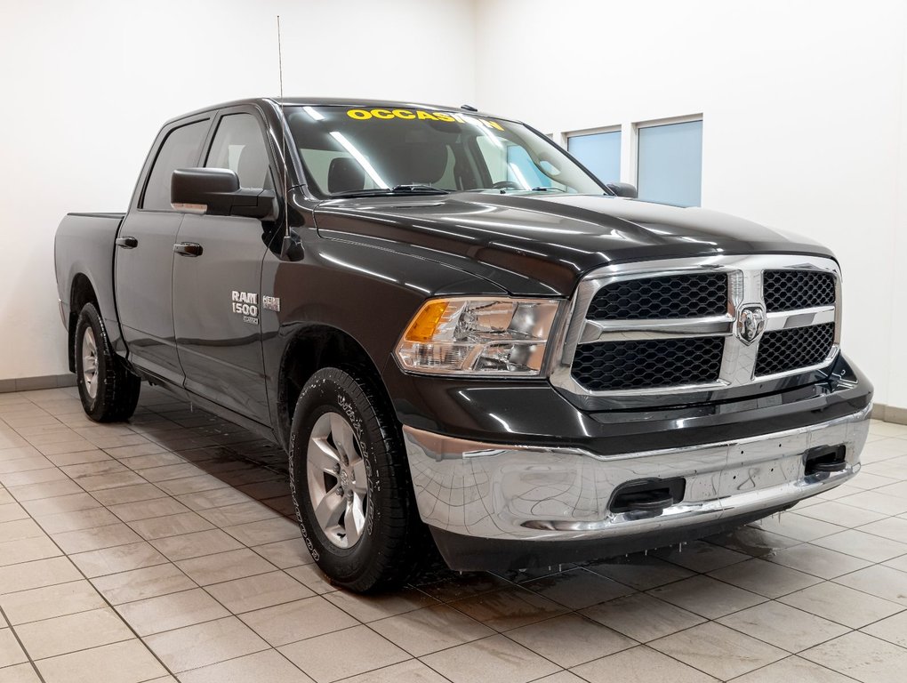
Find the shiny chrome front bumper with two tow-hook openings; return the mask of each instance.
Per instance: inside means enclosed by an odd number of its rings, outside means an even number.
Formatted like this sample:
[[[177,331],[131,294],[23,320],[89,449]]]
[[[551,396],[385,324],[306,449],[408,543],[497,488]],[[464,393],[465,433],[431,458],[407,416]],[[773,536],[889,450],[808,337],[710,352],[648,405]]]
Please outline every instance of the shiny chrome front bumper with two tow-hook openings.
[[[576,448],[482,444],[404,427],[415,498],[442,532],[507,541],[586,541],[695,531],[793,504],[850,479],[872,406],[797,430],[739,441],[603,456]],[[805,475],[805,454],[845,447],[844,470]],[[621,484],[683,477],[661,512],[611,512]]]

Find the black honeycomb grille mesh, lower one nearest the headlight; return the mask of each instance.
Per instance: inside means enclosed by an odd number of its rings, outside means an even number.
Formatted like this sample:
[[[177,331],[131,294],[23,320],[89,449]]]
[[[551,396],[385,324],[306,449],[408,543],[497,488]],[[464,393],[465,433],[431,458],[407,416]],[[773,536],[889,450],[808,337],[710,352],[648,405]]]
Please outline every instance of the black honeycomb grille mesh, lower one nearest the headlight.
[[[646,339],[577,346],[573,378],[590,391],[649,389],[715,382],[722,337]]]

